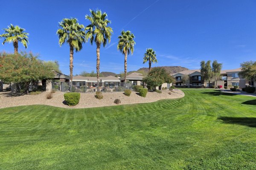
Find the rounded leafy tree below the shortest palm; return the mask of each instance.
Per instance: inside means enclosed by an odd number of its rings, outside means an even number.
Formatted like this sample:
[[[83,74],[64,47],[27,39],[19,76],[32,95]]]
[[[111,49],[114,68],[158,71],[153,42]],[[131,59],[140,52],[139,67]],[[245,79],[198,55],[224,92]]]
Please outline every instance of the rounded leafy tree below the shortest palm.
[[[157,86],[163,83],[174,82],[174,78],[166,72],[163,68],[152,68],[146,77],[143,78],[143,82],[147,84],[147,87],[151,90],[155,90]]]

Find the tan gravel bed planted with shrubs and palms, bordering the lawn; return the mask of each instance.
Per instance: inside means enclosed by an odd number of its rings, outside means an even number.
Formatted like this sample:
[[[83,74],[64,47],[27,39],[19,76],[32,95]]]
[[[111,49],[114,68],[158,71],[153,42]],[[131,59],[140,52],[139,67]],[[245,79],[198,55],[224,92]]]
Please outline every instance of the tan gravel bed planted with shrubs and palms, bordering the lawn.
[[[184,96],[183,91],[175,89],[172,94],[169,94],[169,90],[163,90],[162,94],[157,92],[148,92],[146,97],[141,97],[136,92],[132,92],[131,96],[125,96],[123,92],[106,92],[103,93],[103,99],[96,99],[94,97],[95,93],[81,93],[81,98],[79,104],[76,106],[65,105],[64,102],[64,92],[57,91],[52,94],[52,99],[47,99],[47,92],[43,92],[37,95],[23,95],[23,96],[13,96],[10,92],[0,93],[0,108],[7,108],[13,106],[22,105],[50,105],[61,108],[95,108],[102,106],[112,106],[116,105],[114,103],[115,99],[120,99],[121,103],[119,105],[127,105],[134,103],[148,103],[155,102],[160,99],[176,99]]]

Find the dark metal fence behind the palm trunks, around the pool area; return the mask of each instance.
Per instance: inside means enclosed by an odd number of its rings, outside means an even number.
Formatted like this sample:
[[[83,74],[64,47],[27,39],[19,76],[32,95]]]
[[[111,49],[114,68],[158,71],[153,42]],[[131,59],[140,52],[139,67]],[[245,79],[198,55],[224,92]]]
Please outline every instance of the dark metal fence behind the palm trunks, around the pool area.
[[[54,83],[53,83],[54,84]],[[104,83],[105,85],[102,86],[100,83],[100,91],[102,92],[116,92],[116,91],[125,91],[125,89],[133,90],[134,85],[131,83],[124,83],[124,82],[109,82]],[[97,85],[93,84],[93,86],[88,87],[85,85],[84,82],[76,82],[73,83],[72,88],[70,87],[70,82],[60,82],[60,84],[55,83],[53,85],[55,90],[59,90],[62,92],[79,92],[79,93],[92,93],[97,91]]]

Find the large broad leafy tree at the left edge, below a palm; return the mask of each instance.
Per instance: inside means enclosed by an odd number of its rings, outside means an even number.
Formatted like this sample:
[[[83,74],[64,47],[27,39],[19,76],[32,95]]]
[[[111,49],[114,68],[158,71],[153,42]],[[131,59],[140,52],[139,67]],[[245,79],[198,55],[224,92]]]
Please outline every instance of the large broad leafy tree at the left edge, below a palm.
[[[54,72],[32,53],[0,54],[0,79],[6,84],[19,83],[29,93],[30,83],[51,79]]]

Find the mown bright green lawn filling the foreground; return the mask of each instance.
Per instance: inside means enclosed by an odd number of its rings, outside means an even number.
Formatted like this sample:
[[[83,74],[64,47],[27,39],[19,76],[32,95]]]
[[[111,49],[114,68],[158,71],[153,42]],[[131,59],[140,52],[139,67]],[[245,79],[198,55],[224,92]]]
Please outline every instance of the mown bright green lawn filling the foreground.
[[[0,109],[0,170],[255,170],[256,98],[183,91],[148,104]]]

